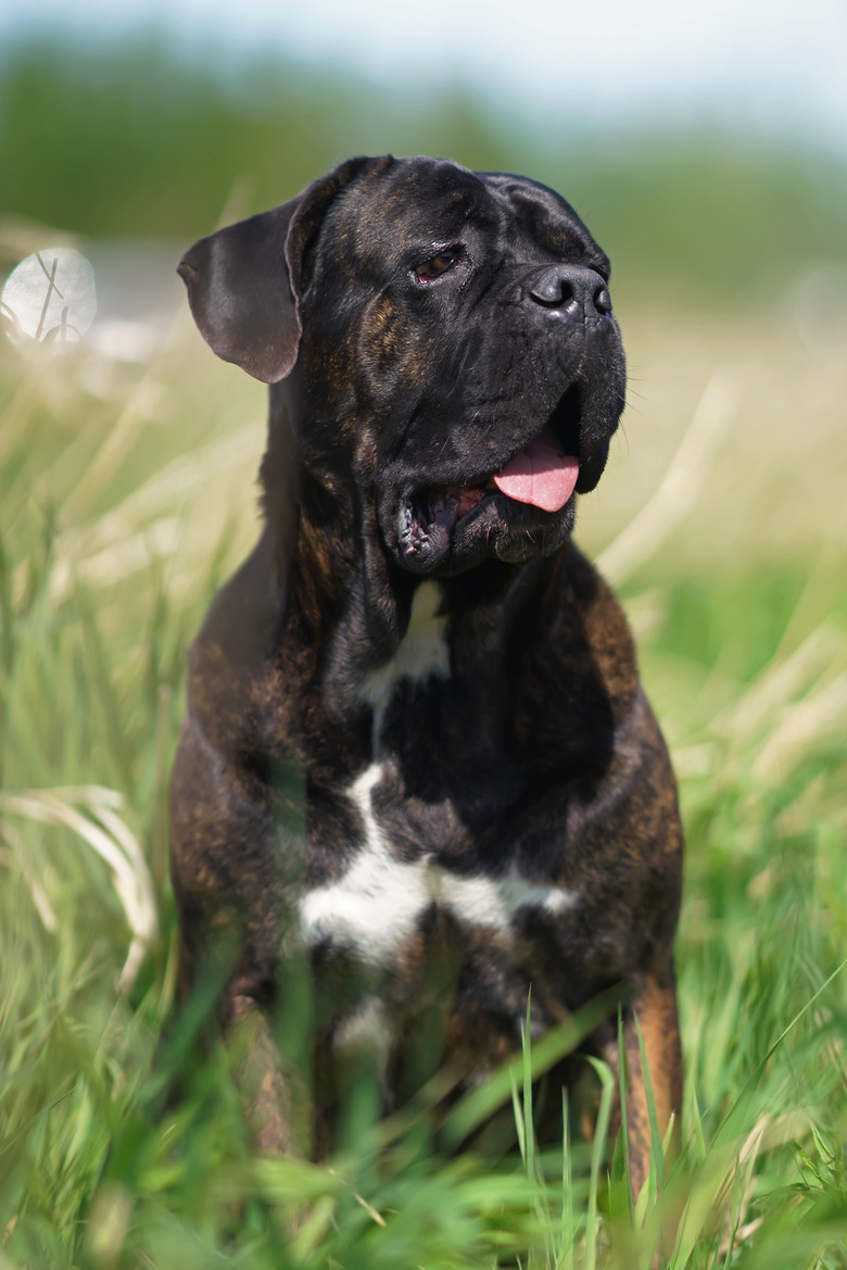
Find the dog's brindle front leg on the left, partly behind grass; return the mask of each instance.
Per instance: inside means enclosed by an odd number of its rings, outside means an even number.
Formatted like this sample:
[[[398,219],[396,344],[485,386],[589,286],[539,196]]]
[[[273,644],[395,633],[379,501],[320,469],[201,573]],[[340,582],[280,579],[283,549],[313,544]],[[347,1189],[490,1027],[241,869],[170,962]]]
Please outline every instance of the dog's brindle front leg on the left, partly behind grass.
[[[218,1019],[253,1139],[262,1151],[307,1158],[310,1102],[296,1064],[277,1044],[274,1013],[279,931],[291,916],[282,899],[283,864],[296,871],[300,856],[291,842],[286,855],[269,795],[236,762],[241,733],[235,730],[234,740],[226,730],[217,662],[199,643],[192,650],[197,667],[208,672],[211,687],[203,693],[192,681],[194,712],[187,715],[171,781],[180,987],[185,994],[220,974]]]

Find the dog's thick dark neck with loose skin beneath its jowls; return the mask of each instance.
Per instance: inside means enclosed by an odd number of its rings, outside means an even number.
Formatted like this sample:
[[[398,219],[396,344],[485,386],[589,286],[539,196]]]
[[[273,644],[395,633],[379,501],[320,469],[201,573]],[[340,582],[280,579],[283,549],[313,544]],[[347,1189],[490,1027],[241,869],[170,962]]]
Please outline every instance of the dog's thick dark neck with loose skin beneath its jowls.
[[[509,673],[513,613],[532,624],[555,560],[486,561],[455,578],[418,577],[390,556],[373,505],[354,505],[345,485],[330,491],[297,452],[296,382],[272,390],[270,434],[262,465],[263,504],[284,612],[279,649],[331,714],[353,721],[378,714],[400,678],[477,682]],[[370,523],[362,523],[370,519]],[[512,673],[514,667],[510,668]]]

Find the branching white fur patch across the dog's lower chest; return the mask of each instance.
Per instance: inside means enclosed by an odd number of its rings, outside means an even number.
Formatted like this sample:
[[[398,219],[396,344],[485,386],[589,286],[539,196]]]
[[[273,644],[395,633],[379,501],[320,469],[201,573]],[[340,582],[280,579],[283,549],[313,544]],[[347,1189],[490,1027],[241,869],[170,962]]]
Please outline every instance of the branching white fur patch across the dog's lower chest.
[[[502,878],[462,878],[432,857],[397,860],[371,805],[381,775],[373,765],[348,790],[364,822],[366,841],[343,878],[303,895],[300,913],[307,945],[329,939],[370,965],[389,966],[433,903],[504,936],[522,908],[559,914],[577,904],[574,892],[527,881],[514,866]]]

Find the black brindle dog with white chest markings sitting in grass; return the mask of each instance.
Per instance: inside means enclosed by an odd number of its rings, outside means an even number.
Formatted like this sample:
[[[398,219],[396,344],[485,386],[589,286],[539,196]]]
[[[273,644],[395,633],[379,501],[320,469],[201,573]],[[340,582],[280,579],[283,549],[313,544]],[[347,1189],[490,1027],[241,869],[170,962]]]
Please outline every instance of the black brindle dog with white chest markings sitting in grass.
[[[571,541],[625,403],[607,257],[545,185],[389,155],[179,272],[270,390],[262,535],[189,650],[171,781],[182,980],[227,947],[259,1147],[330,1149],[350,1054],[390,1110],[601,999],[583,1052],[625,1055],[640,1187],[650,1102],[662,1135],[681,1102],[682,832],[626,620]]]

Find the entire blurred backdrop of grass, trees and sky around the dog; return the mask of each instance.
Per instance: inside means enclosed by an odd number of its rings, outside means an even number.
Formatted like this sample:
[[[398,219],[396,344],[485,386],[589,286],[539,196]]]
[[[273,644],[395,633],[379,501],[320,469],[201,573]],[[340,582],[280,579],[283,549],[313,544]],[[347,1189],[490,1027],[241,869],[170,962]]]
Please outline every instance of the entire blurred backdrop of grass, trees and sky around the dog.
[[[754,1238],[744,1265],[847,1265],[844,65],[843,0],[0,3],[4,1266],[230,1264],[264,1231],[220,1064],[185,1082],[184,1172],[154,1081],[183,657],[257,535],[267,396],[174,271],[385,151],[540,179],[611,255],[629,405],[578,530],[681,780],[683,1142],[710,1198],[674,1266]],[[380,1185],[356,1182],[396,1209]],[[302,1260],[237,1264],[324,1266],[331,1223],[344,1265],[484,1261],[356,1261],[344,1203]],[[425,1205],[422,1247],[452,1212]]]

